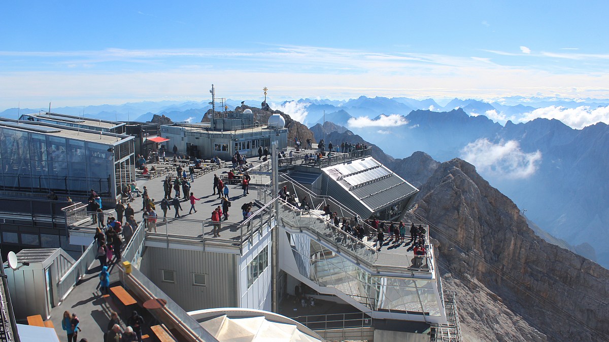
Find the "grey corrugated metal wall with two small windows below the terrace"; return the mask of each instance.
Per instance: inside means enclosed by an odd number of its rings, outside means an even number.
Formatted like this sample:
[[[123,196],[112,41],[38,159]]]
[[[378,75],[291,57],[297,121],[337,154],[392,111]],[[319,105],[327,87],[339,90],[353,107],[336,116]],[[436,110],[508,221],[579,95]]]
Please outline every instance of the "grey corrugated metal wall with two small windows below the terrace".
[[[140,270],[186,311],[236,307],[238,255],[147,247]],[[163,270],[175,271],[175,282],[163,282]],[[206,276],[206,286],[193,283],[193,273]]]

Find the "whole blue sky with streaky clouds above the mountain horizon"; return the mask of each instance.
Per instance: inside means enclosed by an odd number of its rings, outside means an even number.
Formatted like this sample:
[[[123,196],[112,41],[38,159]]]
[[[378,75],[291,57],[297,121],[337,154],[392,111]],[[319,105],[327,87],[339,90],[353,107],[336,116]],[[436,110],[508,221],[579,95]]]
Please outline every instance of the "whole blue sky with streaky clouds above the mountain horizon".
[[[0,110],[220,96],[609,97],[608,3],[3,1]]]

